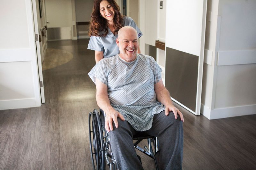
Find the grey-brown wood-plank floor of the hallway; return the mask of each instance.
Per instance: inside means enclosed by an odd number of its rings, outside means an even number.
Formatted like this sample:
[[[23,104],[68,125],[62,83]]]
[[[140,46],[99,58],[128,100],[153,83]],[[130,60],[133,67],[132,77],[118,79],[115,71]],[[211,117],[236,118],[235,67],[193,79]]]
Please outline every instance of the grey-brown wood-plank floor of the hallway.
[[[94,52],[87,44],[86,39],[49,41],[48,48],[74,57],[43,71],[45,104],[0,110],[1,170],[92,169],[88,113],[98,107],[87,75]],[[180,110],[185,117],[183,169],[256,169],[256,115],[210,121]],[[155,169],[153,159],[139,155],[145,169]]]

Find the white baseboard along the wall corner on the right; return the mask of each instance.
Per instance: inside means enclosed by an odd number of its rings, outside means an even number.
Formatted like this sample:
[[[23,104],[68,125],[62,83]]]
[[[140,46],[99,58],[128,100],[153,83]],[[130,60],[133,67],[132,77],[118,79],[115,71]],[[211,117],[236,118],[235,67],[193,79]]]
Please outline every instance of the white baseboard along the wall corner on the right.
[[[210,109],[209,107],[204,106],[201,103],[201,114],[209,120],[235,116],[254,115],[256,114],[256,105]]]

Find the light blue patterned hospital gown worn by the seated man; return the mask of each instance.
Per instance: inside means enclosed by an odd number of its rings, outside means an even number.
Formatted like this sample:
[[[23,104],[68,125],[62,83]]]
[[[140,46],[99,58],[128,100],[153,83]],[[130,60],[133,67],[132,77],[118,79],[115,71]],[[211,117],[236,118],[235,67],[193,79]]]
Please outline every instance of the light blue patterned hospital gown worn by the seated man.
[[[151,56],[137,54],[134,61],[126,62],[115,55],[100,60],[88,75],[94,83],[97,78],[108,86],[111,106],[135,130],[145,131],[152,127],[154,114],[164,110],[154,91],[154,84],[161,80],[161,71]]]

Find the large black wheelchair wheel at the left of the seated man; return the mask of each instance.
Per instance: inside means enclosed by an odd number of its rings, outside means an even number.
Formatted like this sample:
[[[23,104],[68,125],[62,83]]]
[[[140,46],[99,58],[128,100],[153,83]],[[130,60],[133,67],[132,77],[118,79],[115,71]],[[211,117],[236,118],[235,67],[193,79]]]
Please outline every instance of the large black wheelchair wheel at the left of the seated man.
[[[89,113],[89,138],[92,166],[95,170],[105,170],[105,148],[103,148],[103,133],[101,122],[99,122],[99,112],[94,110]],[[96,168],[95,168],[96,167]]]

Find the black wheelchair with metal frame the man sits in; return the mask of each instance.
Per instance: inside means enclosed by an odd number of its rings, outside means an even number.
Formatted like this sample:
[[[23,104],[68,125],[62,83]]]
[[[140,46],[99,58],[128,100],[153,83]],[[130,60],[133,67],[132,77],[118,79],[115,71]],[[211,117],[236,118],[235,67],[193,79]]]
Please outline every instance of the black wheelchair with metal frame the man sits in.
[[[100,112],[94,109],[93,112],[89,113],[89,139],[93,169],[105,170],[109,168],[110,170],[118,170],[117,162],[111,151],[108,131],[105,129],[105,115],[102,109],[100,109]],[[148,140],[148,147],[144,146],[144,149],[138,146],[143,139]],[[133,140],[136,141],[134,147],[154,159],[156,169],[158,169],[155,158],[159,148],[157,137],[138,133],[136,136],[133,136]],[[140,159],[139,155],[137,156]]]

